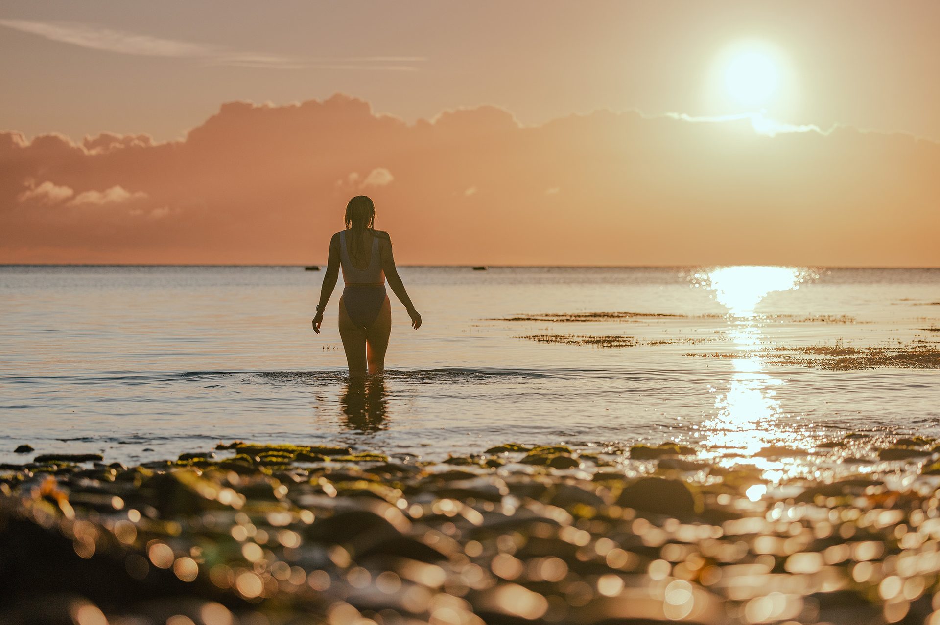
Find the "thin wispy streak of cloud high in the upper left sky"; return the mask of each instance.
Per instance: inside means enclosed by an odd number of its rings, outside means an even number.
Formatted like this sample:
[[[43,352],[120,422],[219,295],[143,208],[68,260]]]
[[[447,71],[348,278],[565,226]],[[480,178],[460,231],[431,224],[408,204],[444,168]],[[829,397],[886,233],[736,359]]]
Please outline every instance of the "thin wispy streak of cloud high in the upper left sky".
[[[198,59],[209,65],[241,68],[414,71],[417,68],[412,64],[426,60],[423,56],[312,58],[244,52],[208,43],[129,33],[89,23],[0,19],[0,26],[90,50],[137,56]]]

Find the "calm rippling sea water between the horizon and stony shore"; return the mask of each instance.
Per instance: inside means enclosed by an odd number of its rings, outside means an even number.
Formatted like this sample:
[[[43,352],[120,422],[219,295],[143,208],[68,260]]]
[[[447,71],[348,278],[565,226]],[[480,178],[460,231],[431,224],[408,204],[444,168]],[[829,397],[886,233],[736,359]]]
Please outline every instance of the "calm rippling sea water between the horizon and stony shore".
[[[382,380],[351,382],[322,272],[0,267],[0,461],[143,461],[219,440],[440,458],[501,442],[680,440],[747,454],[846,431],[940,434],[940,372],[773,364],[766,349],[936,342],[940,270],[403,267]],[[606,322],[499,321],[640,312]],[[821,319],[821,315],[839,319]],[[839,323],[834,323],[838,321]],[[622,348],[538,334],[629,336]],[[763,350],[763,351],[761,351]],[[689,354],[723,353],[735,358]]]

